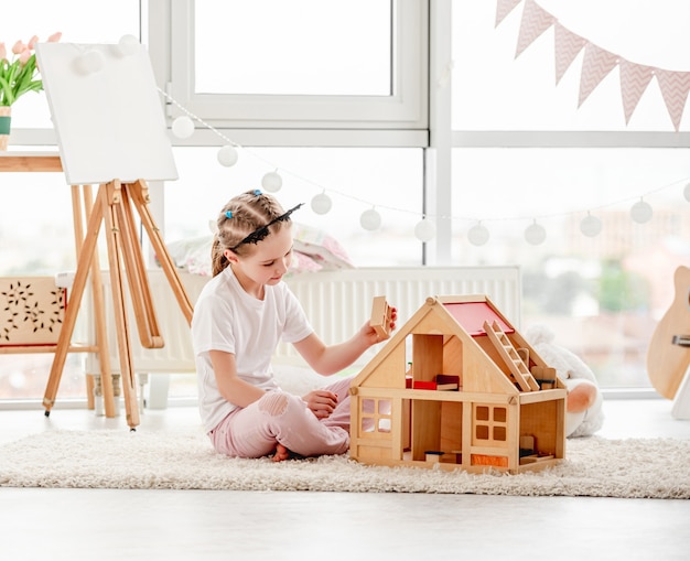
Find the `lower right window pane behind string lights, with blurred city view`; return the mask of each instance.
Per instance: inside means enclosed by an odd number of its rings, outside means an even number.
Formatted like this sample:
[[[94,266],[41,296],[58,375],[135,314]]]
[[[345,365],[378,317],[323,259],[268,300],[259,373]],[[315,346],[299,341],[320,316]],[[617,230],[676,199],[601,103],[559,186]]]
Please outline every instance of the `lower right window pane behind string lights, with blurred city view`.
[[[673,300],[672,276],[690,259],[688,150],[456,149],[454,260],[522,269],[522,327],[545,324],[606,387],[649,386],[649,339]],[[644,198],[647,223],[632,218]],[[590,212],[599,236],[580,229]],[[477,220],[489,230],[468,241]],[[546,240],[532,245],[537,222]]]

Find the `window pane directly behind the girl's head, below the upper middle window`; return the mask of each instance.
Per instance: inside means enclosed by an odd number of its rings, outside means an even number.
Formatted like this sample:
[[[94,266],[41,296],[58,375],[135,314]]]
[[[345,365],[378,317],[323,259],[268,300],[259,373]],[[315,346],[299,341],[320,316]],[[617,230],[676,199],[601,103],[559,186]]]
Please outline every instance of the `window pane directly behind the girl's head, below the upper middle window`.
[[[208,222],[234,195],[261,186],[278,169],[283,206],[306,203],[294,222],[335,238],[359,267],[421,263],[414,226],[421,217],[423,157],[420,149],[241,149],[233,168],[216,160],[217,148],[175,148],[180,179],[165,186],[165,238],[211,236]],[[327,214],[311,207],[325,193]],[[375,207],[381,227],[362,228],[362,214]]]

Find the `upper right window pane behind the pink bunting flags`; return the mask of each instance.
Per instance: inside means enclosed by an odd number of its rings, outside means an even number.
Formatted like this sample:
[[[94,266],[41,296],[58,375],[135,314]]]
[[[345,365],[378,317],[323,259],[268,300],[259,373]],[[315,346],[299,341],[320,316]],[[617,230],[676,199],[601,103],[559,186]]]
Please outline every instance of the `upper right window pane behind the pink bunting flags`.
[[[453,2],[453,129],[673,131],[656,78],[626,126],[618,67],[578,108],[583,52],[557,85],[553,26],[516,57],[521,14],[528,3],[518,3],[496,26],[496,2]],[[689,68],[688,2],[543,0],[539,6],[575,35],[633,63],[671,71]],[[690,128],[688,114],[686,110],[680,130]]]

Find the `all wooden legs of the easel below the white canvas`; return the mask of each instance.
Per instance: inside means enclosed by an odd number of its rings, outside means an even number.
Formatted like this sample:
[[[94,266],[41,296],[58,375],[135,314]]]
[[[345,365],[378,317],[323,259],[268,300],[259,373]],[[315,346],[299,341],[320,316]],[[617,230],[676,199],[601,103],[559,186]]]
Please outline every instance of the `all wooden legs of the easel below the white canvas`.
[[[101,382],[104,386],[104,392],[106,390],[106,386],[109,386],[110,393],[115,393],[112,378],[110,376],[100,270],[96,258],[98,234],[100,230],[100,224],[104,223],[106,230],[105,237],[108,246],[112,308],[118,342],[118,356],[120,359],[121,384],[125,393],[125,407],[127,410],[127,422],[130,429],[134,430],[134,428],[139,424],[139,407],[137,400],[137,386],[132,364],[131,344],[129,338],[125,284],[122,282],[122,263],[125,263],[127,276],[130,280],[130,291],[132,292],[130,295],[132,298],[132,305],[136,314],[138,316],[145,315],[148,320],[148,322],[142,324],[143,327],[140,330],[140,335],[142,332],[144,334],[142,344],[147,341],[145,337],[149,337],[148,341],[151,346],[158,348],[163,346],[163,339],[158,332],[158,325],[155,323],[151,291],[145,274],[143,256],[141,255],[141,246],[138,244],[137,228],[134,225],[130,198],[141,217],[141,222],[151,239],[151,244],[161,261],[161,266],[165,272],[168,281],[170,282],[171,289],[173,290],[177,303],[180,304],[180,309],[187,320],[187,323],[192,322],[193,308],[186,291],[184,290],[182,281],[180,280],[180,276],[177,274],[177,270],[172,261],[172,258],[168,252],[168,248],[165,247],[160,231],[149,211],[149,195],[145,184],[142,181],[138,181],[133,184],[121,184],[119,181],[101,184],[98,190],[96,204],[93,205],[93,208],[89,208],[91,206],[90,191],[87,187],[90,186],[84,186],[84,201],[86,213],[88,215],[88,227],[84,238],[84,244],[78,252],[77,272],[73,283],[73,292],[68,302],[69,305],[65,312],[63,328],[61,330],[58,337],[51,376],[48,378],[43,398],[43,404],[46,408],[45,414],[48,416],[51,408],[55,402],[55,395],[60,385],[60,378],[64,368],[65,358],[69,349],[74,325],[79,311],[79,304],[84,294],[89,268],[91,269],[91,279],[94,282],[94,309],[96,316],[98,349],[101,359]],[[106,399],[106,407],[109,402],[112,403],[112,399]]]

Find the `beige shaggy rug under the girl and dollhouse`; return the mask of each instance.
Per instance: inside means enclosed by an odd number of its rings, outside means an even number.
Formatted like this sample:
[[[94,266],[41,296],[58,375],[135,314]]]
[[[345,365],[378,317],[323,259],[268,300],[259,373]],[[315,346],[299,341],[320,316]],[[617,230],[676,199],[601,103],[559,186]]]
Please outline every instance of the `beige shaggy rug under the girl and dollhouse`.
[[[365,466],[346,455],[238,460],[201,432],[48,431],[0,446],[0,486],[452,493],[690,498],[690,441],[568,441],[558,466],[519,475]]]

